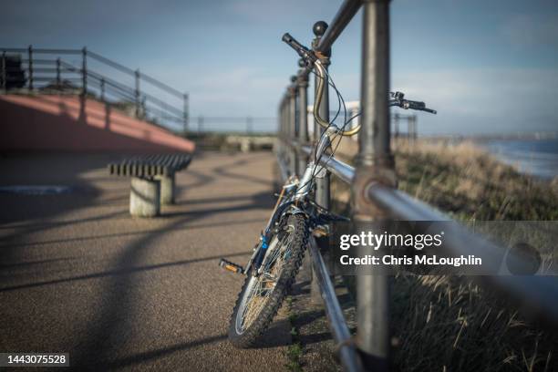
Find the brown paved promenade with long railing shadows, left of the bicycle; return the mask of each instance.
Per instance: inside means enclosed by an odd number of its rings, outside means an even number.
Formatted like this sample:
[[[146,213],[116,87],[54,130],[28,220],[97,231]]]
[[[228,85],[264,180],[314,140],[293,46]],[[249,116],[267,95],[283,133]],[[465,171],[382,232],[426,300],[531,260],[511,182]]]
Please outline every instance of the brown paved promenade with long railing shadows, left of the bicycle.
[[[245,263],[274,205],[273,155],[204,153],[177,175],[177,203],[129,216],[109,155],[0,158],[0,352],[68,352],[76,369],[284,370],[289,323],[259,348],[226,339]]]

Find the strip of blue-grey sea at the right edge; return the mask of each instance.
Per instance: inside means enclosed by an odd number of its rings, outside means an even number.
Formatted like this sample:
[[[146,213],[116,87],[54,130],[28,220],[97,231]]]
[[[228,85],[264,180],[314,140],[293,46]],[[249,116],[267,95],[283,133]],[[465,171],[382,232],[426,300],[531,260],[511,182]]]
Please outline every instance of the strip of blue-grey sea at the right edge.
[[[524,174],[544,180],[558,176],[558,139],[487,140],[481,146]]]

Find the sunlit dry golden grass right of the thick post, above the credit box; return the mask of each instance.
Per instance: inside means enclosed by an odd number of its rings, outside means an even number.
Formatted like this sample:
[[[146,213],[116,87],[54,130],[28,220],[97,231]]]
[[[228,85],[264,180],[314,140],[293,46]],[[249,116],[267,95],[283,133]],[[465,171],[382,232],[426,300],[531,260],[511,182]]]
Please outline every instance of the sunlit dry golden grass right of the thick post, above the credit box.
[[[400,144],[396,156],[399,189],[460,220],[558,220],[558,179],[523,176],[470,142]]]

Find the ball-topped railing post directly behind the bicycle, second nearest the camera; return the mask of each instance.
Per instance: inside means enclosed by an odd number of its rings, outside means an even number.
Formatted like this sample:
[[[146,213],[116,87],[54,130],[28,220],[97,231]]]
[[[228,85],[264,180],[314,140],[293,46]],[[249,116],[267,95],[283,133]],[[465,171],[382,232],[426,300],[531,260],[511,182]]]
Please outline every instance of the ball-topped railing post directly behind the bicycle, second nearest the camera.
[[[320,37],[325,34],[325,30],[327,29],[327,24],[324,21],[319,21],[314,24],[312,27],[312,31],[314,32],[315,38],[312,42],[312,47],[315,49],[320,43]],[[320,54],[320,62],[327,70],[330,64],[330,57],[331,57],[331,50],[328,50],[325,53]],[[319,77],[315,75],[314,80],[314,88],[316,89],[318,86]],[[315,97],[315,96],[314,96]],[[329,121],[329,84],[325,81],[325,88],[324,93],[322,96],[322,102],[320,107],[318,108],[318,113],[322,119],[325,121]],[[314,140],[317,142],[320,139],[320,136],[324,132],[324,129],[320,127],[317,121],[314,121]],[[325,209],[329,209],[330,206],[330,191],[329,191],[329,171],[325,172],[325,176],[323,178],[318,178],[315,181],[315,202],[318,205],[321,205]],[[327,264],[327,267],[332,270],[331,258],[332,254],[328,252],[329,249],[329,242],[328,238],[324,237],[317,240],[317,244],[322,252],[325,252],[324,261]],[[333,276],[333,275],[332,275]],[[316,283],[316,275],[315,273],[312,274],[312,285],[310,288],[310,295],[311,300],[315,304],[320,304],[322,302],[321,294],[319,291],[319,287]]]

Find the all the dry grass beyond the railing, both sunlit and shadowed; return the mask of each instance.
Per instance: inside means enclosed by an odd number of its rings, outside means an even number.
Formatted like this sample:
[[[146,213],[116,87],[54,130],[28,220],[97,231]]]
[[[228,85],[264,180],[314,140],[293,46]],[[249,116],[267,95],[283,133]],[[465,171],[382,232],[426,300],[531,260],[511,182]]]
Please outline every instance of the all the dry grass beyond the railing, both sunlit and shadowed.
[[[471,143],[398,143],[395,155],[398,188],[460,221],[558,220],[558,178],[524,176]],[[332,195],[348,212],[348,187],[333,181]],[[558,336],[468,277],[404,274],[392,288],[396,369],[558,370]]]

